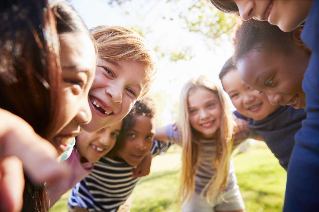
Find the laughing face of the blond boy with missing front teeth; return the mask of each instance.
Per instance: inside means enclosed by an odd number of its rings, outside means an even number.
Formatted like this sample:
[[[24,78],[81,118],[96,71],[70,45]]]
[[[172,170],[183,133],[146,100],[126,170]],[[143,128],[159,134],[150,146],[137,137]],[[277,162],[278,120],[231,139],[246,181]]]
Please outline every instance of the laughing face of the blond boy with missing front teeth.
[[[99,59],[93,85],[89,91],[92,121],[81,125],[95,132],[122,120],[141,95],[147,79],[145,68],[138,61]]]

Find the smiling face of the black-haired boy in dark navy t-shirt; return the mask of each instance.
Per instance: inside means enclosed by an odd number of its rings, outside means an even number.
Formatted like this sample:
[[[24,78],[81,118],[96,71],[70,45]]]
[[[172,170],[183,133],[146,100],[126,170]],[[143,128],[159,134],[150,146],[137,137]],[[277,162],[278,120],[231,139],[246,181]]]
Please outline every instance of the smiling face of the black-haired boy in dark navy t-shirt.
[[[237,111],[246,117],[264,119],[280,106],[272,105],[264,93],[245,84],[235,68],[230,69],[221,82]]]

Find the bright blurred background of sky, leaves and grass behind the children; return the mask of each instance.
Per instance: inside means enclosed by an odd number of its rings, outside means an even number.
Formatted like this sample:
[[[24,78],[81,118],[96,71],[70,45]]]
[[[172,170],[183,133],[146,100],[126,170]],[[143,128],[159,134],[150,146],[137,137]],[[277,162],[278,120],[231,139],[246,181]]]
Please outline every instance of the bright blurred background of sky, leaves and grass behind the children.
[[[199,0],[69,0],[88,28],[119,25],[135,30],[159,58],[149,94],[157,103],[158,124],[177,117],[182,86],[191,77],[218,74],[232,56],[237,17]],[[228,95],[226,95],[228,97]],[[229,104],[232,106],[230,100]],[[232,107],[234,109],[234,107]],[[179,147],[174,145],[152,161],[151,174],[132,193],[132,212],[180,211],[175,202],[179,185]],[[249,140],[234,155],[234,164],[246,211],[281,212],[286,172],[263,142]],[[51,212],[67,211],[68,193]]]

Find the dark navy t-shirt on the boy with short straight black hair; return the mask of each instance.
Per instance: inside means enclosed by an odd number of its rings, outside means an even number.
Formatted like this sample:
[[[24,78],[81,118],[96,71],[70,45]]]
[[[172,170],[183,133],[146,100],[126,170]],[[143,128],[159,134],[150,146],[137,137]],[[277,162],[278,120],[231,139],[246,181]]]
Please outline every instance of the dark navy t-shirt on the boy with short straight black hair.
[[[279,164],[287,170],[295,144],[294,136],[301,128],[301,121],[306,118],[304,109],[296,110],[292,106],[280,106],[262,120],[248,118],[238,111],[234,114],[248,121],[249,128],[263,138],[271,152],[278,158]]]

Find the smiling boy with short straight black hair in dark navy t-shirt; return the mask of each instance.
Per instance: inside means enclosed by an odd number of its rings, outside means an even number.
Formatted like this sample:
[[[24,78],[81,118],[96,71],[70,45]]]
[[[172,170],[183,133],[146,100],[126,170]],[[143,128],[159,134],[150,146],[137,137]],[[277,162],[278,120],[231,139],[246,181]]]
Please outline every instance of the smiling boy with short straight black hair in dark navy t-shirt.
[[[249,128],[261,137],[278,158],[279,164],[287,170],[295,144],[294,136],[301,128],[301,121],[306,118],[304,109],[272,105],[264,93],[242,81],[233,57],[222,67],[219,79],[237,109],[234,114],[248,122]]]

